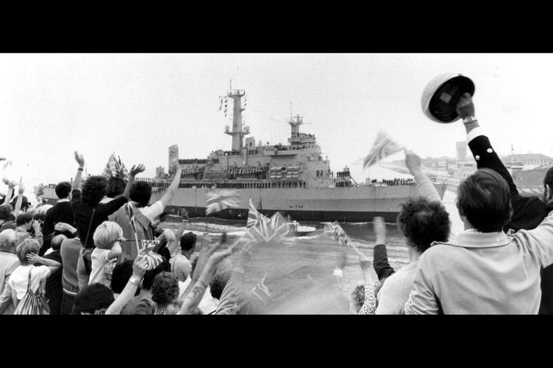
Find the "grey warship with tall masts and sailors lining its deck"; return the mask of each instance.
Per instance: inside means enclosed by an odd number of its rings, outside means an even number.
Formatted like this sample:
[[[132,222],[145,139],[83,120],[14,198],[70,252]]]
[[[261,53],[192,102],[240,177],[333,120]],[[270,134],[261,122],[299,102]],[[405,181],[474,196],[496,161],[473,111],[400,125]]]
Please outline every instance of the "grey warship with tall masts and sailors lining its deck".
[[[166,212],[189,217],[205,217],[206,194],[211,191],[234,190],[241,205],[209,215],[232,220],[246,220],[250,198],[263,215],[279,211],[297,221],[308,222],[369,222],[382,216],[386,222],[395,222],[400,204],[410,197],[419,197],[413,182],[395,185],[379,184],[367,180],[357,184],[346,166],[334,173],[328,157],[323,157],[315,135],[303,133],[303,117],[290,117],[288,144],[257,144],[250,135],[250,127],[243,124],[242,112],[245,90],[232,87],[221,106],[232,108],[232,130],[225,126],[224,133],[232,137],[229,151],[212,151],[205,159],[180,159],[178,146],[169,147],[169,172],[156,168],[156,177],[140,178],[151,183],[151,202],[158,200],[167,190],[175,171],[171,162],[178,159],[182,175],[176,195]],[[221,107],[220,107],[221,109]],[[446,183],[434,183],[440,197]],[[55,184],[44,188],[43,199],[57,202]]]

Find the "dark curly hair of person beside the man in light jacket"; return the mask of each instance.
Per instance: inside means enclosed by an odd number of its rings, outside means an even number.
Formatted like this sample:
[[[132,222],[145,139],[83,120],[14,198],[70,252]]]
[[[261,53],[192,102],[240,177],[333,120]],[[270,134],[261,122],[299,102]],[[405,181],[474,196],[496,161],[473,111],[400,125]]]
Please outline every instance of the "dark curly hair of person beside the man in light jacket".
[[[397,224],[409,244],[420,253],[429,249],[434,241],[446,242],[451,230],[449,213],[445,207],[440,202],[429,202],[424,197],[402,204]]]

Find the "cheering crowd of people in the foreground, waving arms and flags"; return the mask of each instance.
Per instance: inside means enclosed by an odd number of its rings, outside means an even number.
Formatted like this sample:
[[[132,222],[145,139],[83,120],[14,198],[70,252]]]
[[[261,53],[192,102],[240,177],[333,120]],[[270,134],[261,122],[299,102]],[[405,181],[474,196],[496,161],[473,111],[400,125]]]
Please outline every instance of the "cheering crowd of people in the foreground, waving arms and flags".
[[[456,206],[464,231],[453,233],[451,214],[423,173],[420,157],[406,152],[406,166],[420,191],[420,197],[402,204],[397,216],[409,264],[391,267],[386,224],[375,217],[372,261],[355,248],[363,283],[350,296],[317,299],[319,307],[334,303],[332,311],[348,313],[345,300],[363,315],[553,313],[553,168],[544,177],[543,197],[521,196],[474,118],[470,95],[460,99],[457,111],[463,119],[471,117],[463,124],[478,165],[458,187]],[[178,188],[178,160],[173,162],[174,179],[153,203],[151,183],[135,180],[144,166],[133,166],[127,180],[95,175],[82,184],[84,157],[75,153],[75,160],[75,179],[57,184],[55,206],[30,206],[23,184],[4,180],[8,193],[0,199],[0,314],[305,311],[297,303],[294,308],[286,303],[272,307],[281,291],[271,289],[267,275],[247,287],[254,242],[236,250],[207,234],[198,240],[185,233],[186,215],[176,231],[160,228]],[[340,253],[334,273],[329,270],[325,285],[333,285],[334,291],[343,281],[346,252]],[[294,300],[320,297],[315,290],[306,289]]]

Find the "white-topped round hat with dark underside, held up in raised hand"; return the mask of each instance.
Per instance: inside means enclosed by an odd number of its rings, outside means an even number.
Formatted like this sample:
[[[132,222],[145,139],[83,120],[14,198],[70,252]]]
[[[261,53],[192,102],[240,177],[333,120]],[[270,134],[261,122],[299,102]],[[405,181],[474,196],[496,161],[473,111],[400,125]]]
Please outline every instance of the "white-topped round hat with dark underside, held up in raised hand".
[[[457,103],[463,93],[474,95],[474,82],[456,73],[433,78],[422,91],[422,111],[438,123],[453,123],[459,119]]]

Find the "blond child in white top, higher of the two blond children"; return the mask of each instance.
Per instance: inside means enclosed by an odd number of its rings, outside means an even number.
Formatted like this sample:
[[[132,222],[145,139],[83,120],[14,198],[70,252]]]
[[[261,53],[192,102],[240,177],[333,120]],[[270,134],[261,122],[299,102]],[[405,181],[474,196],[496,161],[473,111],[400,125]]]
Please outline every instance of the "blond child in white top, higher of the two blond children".
[[[113,268],[122,253],[123,229],[117,222],[104,221],[94,231],[93,239],[96,248],[91,254],[92,271],[88,285],[100,282],[111,287]]]

